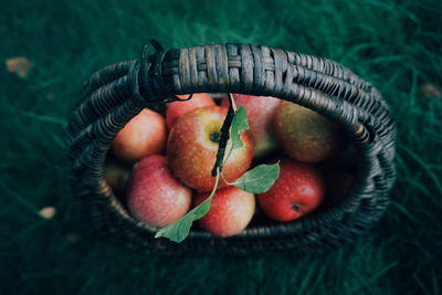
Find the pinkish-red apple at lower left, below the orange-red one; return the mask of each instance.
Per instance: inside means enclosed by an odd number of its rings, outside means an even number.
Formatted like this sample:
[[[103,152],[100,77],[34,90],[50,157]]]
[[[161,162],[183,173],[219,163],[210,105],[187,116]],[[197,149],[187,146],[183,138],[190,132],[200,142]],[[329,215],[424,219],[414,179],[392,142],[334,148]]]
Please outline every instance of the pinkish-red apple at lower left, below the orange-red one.
[[[192,191],[170,173],[167,158],[151,155],[137,162],[127,185],[131,214],[151,225],[165,226],[187,213]]]

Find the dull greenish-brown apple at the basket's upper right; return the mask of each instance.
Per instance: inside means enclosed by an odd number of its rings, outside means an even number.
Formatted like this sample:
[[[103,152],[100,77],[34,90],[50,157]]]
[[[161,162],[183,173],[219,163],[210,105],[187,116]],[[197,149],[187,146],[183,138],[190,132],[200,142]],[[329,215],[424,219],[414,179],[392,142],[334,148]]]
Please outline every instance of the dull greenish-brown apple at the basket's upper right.
[[[293,159],[318,162],[336,155],[344,145],[344,131],[318,113],[282,102],[273,117],[275,137]]]

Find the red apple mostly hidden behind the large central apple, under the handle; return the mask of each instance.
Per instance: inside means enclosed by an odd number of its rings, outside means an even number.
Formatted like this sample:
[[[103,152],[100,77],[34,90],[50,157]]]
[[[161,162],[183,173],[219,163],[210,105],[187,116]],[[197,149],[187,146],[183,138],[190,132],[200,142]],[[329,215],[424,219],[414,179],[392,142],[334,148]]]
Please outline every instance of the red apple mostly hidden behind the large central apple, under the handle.
[[[181,99],[187,98],[189,95],[177,95]],[[167,105],[166,109],[166,124],[169,130],[179,117],[199,107],[214,106],[213,98],[207,93],[194,93],[192,98],[183,102],[173,102]]]

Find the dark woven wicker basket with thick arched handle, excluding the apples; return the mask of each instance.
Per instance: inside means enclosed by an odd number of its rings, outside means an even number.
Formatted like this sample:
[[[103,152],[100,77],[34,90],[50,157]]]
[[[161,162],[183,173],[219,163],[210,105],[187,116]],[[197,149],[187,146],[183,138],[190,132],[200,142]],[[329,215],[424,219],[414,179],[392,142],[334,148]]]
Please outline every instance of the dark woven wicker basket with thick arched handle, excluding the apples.
[[[152,45],[151,54],[145,45],[140,59],[93,74],[66,128],[70,187],[98,233],[145,253],[299,253],[354,241],[381,218],[394,180],[396,129],[373,86],[336,62],[263,45]],[[155,229],[131,217],[104,180],[106,154],[143,108],[161,112],[176,94],[202,92],[274,96],[338,123],[360,155],[349,197],[303,219],[256,224],[231,238],[192,229],[179,244],[155,239]]]

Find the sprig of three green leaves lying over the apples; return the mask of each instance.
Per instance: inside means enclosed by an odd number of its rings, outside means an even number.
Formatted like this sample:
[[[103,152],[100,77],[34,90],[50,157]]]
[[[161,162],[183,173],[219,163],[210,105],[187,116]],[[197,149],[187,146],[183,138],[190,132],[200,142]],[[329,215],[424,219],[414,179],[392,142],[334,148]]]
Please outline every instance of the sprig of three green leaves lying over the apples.
[[[246,118],[245,109],[240,107],[233,116],[232,125],[230,127],[231,130],[231,140],[232,140],[232,148],[230,152],[236,148],[241,148],[243,143],[241,140],[241,133],[244,130],[249,130],[249,122]],[[229,158],[229,155],[228,157]],[[227,160],[227,159],[225,159]],[[222,167],[222,166],[221,166]],[[217,192],[218,183],[220,180],[220,175],[222,172],[220,169],[217,169],[217,180],[213,187],[212,192],[210,193],[209,198],[207,198],[202,203],[190,210],[187,214],[180,218],[178,221],[173,222],[170,225],[167,225],[160,229],[155,238],[167,238],[170,241],[180,243],[182,242],[188,235],[190,231],[190,226],[192,225],[193,221],[203,218],[210,209],[210,204],[212,199]],[[276,181],[277,177],[280,176],[280,165],[260,165],[255,168],[245,172],[242,177],[240,177],[233,183],[228,183],[230,186],[234,186],[239,189],[251,193],[263,193],[266,192],[273,183]]]

